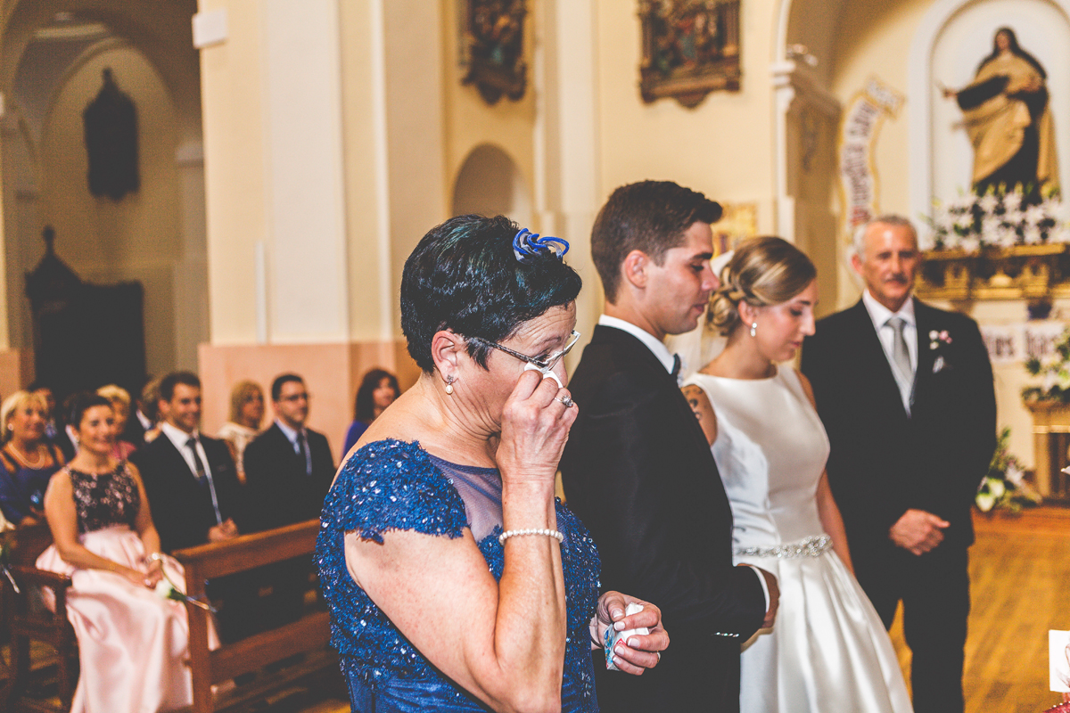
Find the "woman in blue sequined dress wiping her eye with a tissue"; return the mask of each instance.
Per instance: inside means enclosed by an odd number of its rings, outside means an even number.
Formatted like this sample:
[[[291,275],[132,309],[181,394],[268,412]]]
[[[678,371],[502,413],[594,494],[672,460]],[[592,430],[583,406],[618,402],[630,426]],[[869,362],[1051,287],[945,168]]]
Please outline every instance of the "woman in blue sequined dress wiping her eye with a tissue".
[[[342,464],[317,543],[354,711],[597,711],[591,651],[608,630],[651,630],[613,648],[627,673],[668,645],[657,607],[599,598],[594,543],[553,497],[579,336],[563,244],[461,216],[406,262],[423,374]]]

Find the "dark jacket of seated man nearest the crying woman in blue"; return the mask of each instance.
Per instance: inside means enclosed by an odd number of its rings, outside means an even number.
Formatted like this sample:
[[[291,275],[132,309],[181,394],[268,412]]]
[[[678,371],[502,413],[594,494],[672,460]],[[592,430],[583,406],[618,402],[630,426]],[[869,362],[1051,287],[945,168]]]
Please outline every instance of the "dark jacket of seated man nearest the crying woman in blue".
[[[306,430],[312,475],[305,474],[305,461],[277,423],[245,447],[245,489],[249,502],[249,527],[269,530],[292,523],[319,518],[335,466],[331,446],[322,433]]]

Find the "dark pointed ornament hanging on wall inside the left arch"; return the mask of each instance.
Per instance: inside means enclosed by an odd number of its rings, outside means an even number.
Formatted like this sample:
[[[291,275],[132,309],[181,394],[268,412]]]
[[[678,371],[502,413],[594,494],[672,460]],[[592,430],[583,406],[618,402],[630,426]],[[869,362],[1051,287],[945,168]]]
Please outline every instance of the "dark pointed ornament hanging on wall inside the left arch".
[[[82,112],[89,154],[89,191],[121,200],[141,186],[138,172],[137,108],[116,83],[110,67],[104,86]]]

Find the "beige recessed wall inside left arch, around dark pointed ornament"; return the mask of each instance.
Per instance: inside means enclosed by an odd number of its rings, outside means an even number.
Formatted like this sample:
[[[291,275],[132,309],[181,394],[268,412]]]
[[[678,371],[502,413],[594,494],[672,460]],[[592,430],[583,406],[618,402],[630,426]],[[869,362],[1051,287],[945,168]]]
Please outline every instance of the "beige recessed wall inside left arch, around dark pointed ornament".
[[[111,67],[138,111],[141,187],[122,200],[89,192],[81,112]],[[175,351],[172,266],[182,259],[182,217],[174,151],[174,108],[159,76],[136,49],[94,55],[59,89],[41,141],[41,219],[56,228],[58,254],[82,278],[109,283],[139,280],[146,289],[147,367],[159,372],[181,359]],[[35,238],[36,254],[44,245]],[[25,265],[32,269],[33,264]],[[19,298],[21,294],[19,294]],[[193,366],[195,355],[185,359]]]

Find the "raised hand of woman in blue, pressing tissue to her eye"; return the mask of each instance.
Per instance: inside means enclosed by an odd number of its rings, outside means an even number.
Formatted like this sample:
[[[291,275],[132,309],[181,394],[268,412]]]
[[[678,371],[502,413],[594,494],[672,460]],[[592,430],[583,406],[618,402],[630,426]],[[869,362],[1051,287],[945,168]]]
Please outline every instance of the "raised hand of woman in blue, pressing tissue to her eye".
[[[578,408],[552,376],[525,371],[502,409],[496,462],[507,482],[553,482]]]

